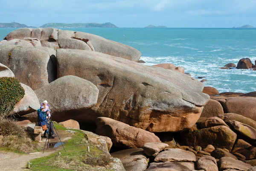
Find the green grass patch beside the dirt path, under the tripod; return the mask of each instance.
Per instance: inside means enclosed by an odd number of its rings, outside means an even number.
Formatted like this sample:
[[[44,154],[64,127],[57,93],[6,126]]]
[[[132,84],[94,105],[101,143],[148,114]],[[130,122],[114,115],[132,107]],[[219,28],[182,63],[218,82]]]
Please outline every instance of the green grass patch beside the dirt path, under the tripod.
[[[62,125],[54,123],[57,130],[67,130]],[[106,169],[96,168],[96,165],[108,165],[111,162],[109,156],[99,148],[91,145],[85,134],[76,129],[72,139],[67,140],[64,144],[66,152],[62,149],[47,157],[34,159],[31,162],[30,170],[32,171],[100,171]],[[90,153],[87,151],[90,146]],[[61,154],[58,154],[61,152]]]

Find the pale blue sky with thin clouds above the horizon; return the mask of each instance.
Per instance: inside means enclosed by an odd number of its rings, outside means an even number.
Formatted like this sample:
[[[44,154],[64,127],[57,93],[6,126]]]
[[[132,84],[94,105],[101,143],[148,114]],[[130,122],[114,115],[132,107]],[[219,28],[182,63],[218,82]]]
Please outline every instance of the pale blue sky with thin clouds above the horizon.
[[[113,23],[118,27],[256,27],[256,0],[0,0],[0,23]]]

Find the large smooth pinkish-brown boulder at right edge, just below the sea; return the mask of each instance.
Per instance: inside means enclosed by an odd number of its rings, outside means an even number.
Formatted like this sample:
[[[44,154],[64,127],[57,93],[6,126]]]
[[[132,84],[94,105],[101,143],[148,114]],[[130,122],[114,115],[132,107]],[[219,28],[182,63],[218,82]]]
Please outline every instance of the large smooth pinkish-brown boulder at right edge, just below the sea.
[[[256,97],[230,97],[223,109],[224,113],[240,114],[256,121]]]

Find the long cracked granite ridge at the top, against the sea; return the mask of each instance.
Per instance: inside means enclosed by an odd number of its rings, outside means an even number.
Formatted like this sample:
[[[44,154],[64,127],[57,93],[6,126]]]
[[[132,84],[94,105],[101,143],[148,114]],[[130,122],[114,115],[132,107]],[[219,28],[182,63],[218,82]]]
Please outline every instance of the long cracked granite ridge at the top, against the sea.
[[[9,33],[4,39],[9,42],[14,39],[22,40],[24,37],[36,38],[41,41],[42,46],[53,49],[73,48],[97,51],[136,62],[141,56],[140,51],[131,46],[107,40],[94,34],[56,28],[20,28]]]

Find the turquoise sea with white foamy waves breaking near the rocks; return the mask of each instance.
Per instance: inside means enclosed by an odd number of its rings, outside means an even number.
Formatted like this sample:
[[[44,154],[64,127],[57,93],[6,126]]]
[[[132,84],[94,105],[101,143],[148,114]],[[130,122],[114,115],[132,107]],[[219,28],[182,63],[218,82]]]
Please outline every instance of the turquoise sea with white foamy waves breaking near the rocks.
[[[0,28],[0,40],[17,28]],[[220,69],[241,58],[256,60],[256,29],[242,28],[60,28],[84,31],[138,49],[143,65],[172,63],[185,73],[205,77],[219,92],[256,91],[256,71]]]

